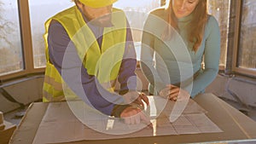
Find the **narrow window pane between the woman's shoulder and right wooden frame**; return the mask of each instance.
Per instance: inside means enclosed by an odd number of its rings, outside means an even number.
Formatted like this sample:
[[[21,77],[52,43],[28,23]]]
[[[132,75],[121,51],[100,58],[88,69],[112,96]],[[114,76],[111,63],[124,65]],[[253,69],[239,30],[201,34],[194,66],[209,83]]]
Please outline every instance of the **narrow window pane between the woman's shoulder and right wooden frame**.
[[[218,20],[221,34],[219,66],[224,69],[227,56],[227,41],[230,17],[230,0],[208,0],[208,12]]]

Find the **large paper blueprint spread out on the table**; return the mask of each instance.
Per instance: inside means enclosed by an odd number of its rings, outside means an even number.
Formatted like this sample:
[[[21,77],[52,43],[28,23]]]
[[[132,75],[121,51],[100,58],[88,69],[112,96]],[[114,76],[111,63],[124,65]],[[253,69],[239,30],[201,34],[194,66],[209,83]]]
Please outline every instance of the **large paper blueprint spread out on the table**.
[[[59,143],[83,140],[105,140],[156,135],[183,135],[222,132],[207,118],[207,111],[195,101],[189,103],[177,120],[170,122],[175,105],[160,96],[148,96],[145,114],[153,128],[147,124],[125,124],[121,118],[103,115],[83,101],[53,102],[44,114],[34,143]]]

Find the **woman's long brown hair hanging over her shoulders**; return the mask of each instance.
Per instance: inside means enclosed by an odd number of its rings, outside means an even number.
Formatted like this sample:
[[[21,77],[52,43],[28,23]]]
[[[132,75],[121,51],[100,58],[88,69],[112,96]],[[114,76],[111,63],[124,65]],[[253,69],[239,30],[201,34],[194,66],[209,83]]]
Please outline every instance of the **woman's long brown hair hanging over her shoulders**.
[[[168,4],[166,8],[167,13],[167,23],[172,26],[175,30],[179,30],[177,26],[177,17],[175,16],[173,9],[172,9],[172,0]],[[203,39],[203,34],[205,30],[205,26],[208,20],[208,13],[207,13],[207,0],[199,0],[198,4],[196,5],[193,13],[193,19],[186,26],[186,31],[188,33],[188,40],[190,43],[194,43],[193,51],[197,51],[201,45],[201,41]],[[163,33],[163,38],[172,37],[172,31],[169,30]]]

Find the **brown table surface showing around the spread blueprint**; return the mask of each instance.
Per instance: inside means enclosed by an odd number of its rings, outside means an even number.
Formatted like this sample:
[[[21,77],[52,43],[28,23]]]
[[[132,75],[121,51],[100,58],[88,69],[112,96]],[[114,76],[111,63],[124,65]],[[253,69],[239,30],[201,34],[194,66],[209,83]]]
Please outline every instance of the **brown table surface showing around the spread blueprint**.
[[[220,100],[216,95],[201,94],[195,97],[195,101],[207,110],[207,117],[218,125],[224,132],[206,133],[192,135],[164,135],[152,137],[138,137],[113,139],[102,141],[73,141],[69,143],[90,143],[90,144],[161,144],[161,143],[189,143],[189,142],[217,142],[217,141],[256,141],[256,122],[243,113],[237,111],[226,102]],[[28,144],[32,143],[38,130],[48,103],[35,102],[28,108],[26,116],[21,120],[18,129],[12,136],[10,143]]]

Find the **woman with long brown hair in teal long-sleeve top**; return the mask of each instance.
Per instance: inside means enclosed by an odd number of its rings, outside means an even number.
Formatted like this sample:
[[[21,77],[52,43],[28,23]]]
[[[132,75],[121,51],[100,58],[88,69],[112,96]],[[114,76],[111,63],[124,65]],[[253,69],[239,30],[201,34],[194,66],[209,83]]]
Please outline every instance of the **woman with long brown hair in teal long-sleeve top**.
[[[152,95],[194,98],[218,74],[220,33],[207,0],[170,0],[166,9],[154,9],[142,43],[141,66]]]

